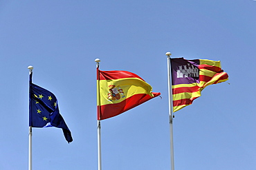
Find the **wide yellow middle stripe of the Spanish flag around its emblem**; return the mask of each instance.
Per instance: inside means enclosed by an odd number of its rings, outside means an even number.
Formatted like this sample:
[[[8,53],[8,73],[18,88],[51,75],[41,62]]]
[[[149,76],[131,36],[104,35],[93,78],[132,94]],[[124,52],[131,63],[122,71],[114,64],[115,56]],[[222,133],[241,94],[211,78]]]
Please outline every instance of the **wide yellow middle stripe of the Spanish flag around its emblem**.
[[[145,81],[142,81],[140,78],[120,78],[114,80],[102,80],[97,83],[100,85],[100,91],[98,96],[100,96],[100,100],[97,100],[97,105],[108,105],[113,103],[120,103],[126,98],[129,98],[135,94],[149,94],[153,97],[152,94],[152,87]],[[118,91],[118,96],[120,95],[120,99],[118,100],[111,100],[108,98],[110,91],[109,85],[115,85],[116,90],[122,89]]]

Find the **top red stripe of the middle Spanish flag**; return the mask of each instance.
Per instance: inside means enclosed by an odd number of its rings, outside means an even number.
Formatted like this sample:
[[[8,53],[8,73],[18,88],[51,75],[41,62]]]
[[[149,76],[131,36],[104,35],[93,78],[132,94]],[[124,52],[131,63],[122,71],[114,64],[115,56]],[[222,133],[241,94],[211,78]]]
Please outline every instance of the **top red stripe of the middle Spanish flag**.
[[[99,70],[100,71],[100,70]],[[141,78],[137,74],[127,71],[100,71],[100,80],[112,80],[119,78]],[[144,80],[143,80],[144,81]]]

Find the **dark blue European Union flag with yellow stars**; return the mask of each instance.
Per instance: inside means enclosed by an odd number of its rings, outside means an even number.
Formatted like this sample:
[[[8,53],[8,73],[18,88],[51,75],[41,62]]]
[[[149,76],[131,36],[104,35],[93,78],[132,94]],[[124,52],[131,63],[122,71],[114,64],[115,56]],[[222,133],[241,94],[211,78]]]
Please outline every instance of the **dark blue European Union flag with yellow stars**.
[[[55,95],[31,81],[29,126],[62,128],[66,141],[73,141],[71,131],[60,114]]]

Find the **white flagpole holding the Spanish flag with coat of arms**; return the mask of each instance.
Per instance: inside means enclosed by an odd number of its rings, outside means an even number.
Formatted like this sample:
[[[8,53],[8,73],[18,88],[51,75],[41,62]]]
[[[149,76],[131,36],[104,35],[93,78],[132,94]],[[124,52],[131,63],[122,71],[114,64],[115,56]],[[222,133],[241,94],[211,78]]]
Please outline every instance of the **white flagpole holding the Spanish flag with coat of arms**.
[[[100,67],[100,59],[95,59],[96,67],[97,67],[97,100],[100,102],[100,75],[99,74],[99,67]],[[100,120],[98,120],[98,170],[101,170],[101,133],[100,133]]]

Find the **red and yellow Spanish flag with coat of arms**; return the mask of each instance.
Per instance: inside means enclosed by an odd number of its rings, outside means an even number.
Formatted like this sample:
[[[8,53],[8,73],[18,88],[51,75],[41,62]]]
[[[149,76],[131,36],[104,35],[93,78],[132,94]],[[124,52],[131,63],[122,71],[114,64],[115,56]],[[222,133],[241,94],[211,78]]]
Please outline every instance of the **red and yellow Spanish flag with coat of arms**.
[[[97,69],[98,120],[111,118],[132,109],[161,93],[140,76],[127,71],[100,71]]]

